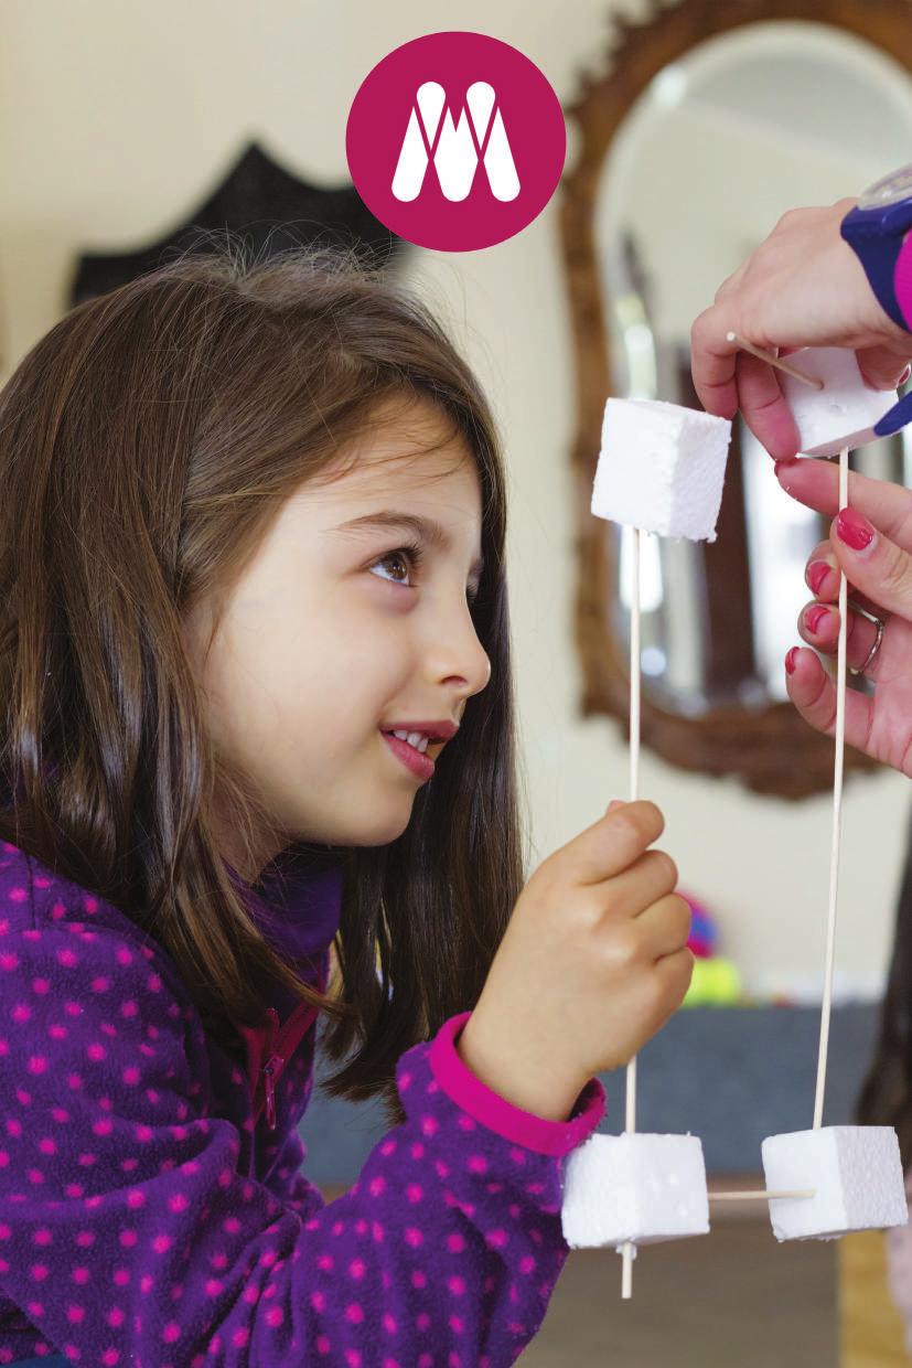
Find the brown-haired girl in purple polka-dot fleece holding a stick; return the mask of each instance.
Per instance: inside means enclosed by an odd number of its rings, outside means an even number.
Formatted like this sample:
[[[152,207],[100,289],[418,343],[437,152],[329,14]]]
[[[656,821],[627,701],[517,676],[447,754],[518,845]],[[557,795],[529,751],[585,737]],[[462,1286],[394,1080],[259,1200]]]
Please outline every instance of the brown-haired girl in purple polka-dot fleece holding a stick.
[[[476,380],[354,259],[228,244],[38,341],[0,487],[0,1364],[513,1363],[592,1025],[623,1062],[692,958],[651,804],[524,891]],[[392,1122],[331,1204],[319,1012]]]

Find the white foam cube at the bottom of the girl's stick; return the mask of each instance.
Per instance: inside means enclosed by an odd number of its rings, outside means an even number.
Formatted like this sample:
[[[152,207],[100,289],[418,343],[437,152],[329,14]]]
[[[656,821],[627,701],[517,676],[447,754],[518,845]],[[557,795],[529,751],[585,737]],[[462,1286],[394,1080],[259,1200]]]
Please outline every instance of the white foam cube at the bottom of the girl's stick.
[[[563,1170],[563,1238],[572,1249],[654,1245],[706,1235],[710,1202],[699,1135],[595,1133]]]

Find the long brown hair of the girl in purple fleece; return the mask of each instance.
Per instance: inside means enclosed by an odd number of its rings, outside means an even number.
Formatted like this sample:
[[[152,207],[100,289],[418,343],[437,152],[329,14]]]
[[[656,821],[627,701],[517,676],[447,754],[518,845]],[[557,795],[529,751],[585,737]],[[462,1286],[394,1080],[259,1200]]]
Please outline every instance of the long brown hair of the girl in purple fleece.
[[[395,1124],[397,1060],[474,1005],[525,877],[499,436],[425,304],[356,248],[209,248],[74,308],[0,391],[0,839],[155,936],[226,1048],[271,979],[317,1004],[330,1059],[357,1045],[321,1086],[380,1093]],[[212,594],[215,635],[284,499],[345,473],[399,397],[431,399],[477,465],[491,680],[402,836],[342,852],[323,996],[226,873],[216,795],[247,851],[265,814],[209,743],[180,628]]]

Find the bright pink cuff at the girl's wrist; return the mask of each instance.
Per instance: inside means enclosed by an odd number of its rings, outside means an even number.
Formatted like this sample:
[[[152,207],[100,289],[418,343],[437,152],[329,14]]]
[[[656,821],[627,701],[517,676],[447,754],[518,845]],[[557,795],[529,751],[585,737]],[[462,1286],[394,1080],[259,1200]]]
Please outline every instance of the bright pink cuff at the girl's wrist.
[[[540,1155],[566,1155],[588,1140],[604,1115],[604,1088],[591,1078],[577,1097],[569,1120],[548,1120],[514,1107],[481,1082],[462,1062],[455,1042],[472,1012],[443,1023],[431,1041],[428,1063],[443,1090],[489,1130]]]

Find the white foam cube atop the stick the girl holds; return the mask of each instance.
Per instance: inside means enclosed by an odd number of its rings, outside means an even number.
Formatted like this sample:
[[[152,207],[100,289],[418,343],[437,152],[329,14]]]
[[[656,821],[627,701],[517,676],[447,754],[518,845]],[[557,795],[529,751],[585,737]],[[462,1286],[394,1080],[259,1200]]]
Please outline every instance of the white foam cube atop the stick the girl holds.
[[[715,542],[727,419],[665,399],[608,399],[591,512],[659,536]]]

